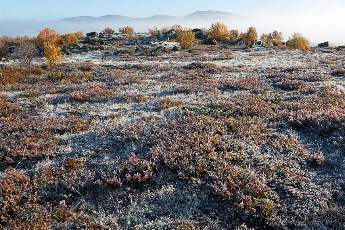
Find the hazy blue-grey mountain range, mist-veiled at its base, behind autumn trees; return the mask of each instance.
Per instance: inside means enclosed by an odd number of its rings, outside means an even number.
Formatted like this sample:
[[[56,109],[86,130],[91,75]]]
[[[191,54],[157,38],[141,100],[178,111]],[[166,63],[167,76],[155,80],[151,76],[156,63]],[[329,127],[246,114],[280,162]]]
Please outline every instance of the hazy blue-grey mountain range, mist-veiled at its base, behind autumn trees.
[[[0,34],[6,34],[11,37],[18,35],[36,36],[42,28],[49,27],[55,29],[60,34],[70,33],[82,30],[87,33],[90,31],[100,32],[106,27],[110,27],[117,31],[122,26],[132,26],[136,32],[147,32],[149,28],[157,26],[172,26],[181,24],[183,27],[201,28],[208,27],[210,22],[222,21],[231,23],[231,27],[239,27],[242,24],[249,26],[245,21],[249,20],[248,16],[226,13],[220,11],[197,11],[184,17],[168,16],[158,14],[148,18],[132,18],[121,15],[106,15],[102,17],[80,16],[63,18],[52,22],[22,22],[7,21],[0,22]],[[28,26],[29,25],[29,26]],[[245,27],[243,27],[245,28]]]

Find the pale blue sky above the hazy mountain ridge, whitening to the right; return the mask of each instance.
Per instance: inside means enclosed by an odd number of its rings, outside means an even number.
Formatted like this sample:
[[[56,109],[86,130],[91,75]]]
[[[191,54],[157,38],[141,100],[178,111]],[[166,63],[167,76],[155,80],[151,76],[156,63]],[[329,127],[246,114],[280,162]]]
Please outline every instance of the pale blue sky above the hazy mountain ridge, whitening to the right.
[[[199,10],[217,10],[248,16],[263,14],[314,15],[326,17],[345,11],[345,0],[0,0],[0,21],[50,21],[74,16],[104,16],[118,14],[130,17],[150,17],[155,14],[185,16]]]

